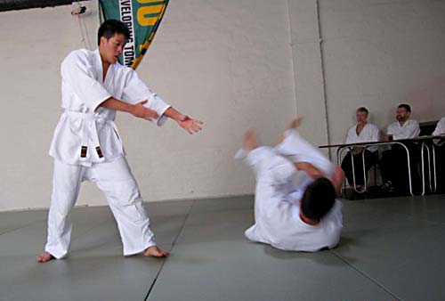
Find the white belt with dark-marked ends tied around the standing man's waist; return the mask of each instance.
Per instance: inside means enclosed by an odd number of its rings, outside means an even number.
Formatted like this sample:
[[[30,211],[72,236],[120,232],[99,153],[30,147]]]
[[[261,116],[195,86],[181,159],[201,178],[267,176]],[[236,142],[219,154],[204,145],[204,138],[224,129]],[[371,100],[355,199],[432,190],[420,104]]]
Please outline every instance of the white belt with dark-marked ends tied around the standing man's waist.
[[[93,161],[93,162],[102,162],[105,160],[105,157],[103,156],[102,150],[101,150],[101,143],[99,142],[99,136],[97,134],[97,127],[96,127],[96,121],[103,121],[106,123],[109,123],[111,126],[113,126],[114,130],[117,132],[116,124],[113,120],[109,118],[104,118],[101,116],[89,114],[89,113],[82,113],[72,110],[65,110],[63,114],[66,114],[70,117],[77,117],[83,119],[82,124],[82,144],[80,146],[80,161]],[[89,145],[88,138],[90,138],[93,141],[93,145]],[[120,135],[119,135],[119,141],[120,141]],[[95,157],[94,159],[88,158],[88,148],[93,147],[95,150]],[[122,147],[122,145],[121,145]]]

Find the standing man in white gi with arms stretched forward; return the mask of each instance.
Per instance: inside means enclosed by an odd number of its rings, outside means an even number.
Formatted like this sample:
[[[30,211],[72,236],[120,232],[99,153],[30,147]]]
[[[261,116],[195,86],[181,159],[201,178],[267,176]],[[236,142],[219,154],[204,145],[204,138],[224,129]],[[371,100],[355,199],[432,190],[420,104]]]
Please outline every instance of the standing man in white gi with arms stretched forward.
[[[44,253],[36,261],[66,256],[71,236],[70,211],[83,181],[95,183],[105,194],[117,221],[124,255],[167,256],[156,245],[150,220],[125,159],[114,124],[117,111],[162,126],[172,118],[190,134],[201,121],[189,118],[163,102],[133,69],[118,63],[128,28],[107,20],[99,28],[95,51],[80,49],[61,63],[61,107],[50,155],[54,158],[53,191]]]

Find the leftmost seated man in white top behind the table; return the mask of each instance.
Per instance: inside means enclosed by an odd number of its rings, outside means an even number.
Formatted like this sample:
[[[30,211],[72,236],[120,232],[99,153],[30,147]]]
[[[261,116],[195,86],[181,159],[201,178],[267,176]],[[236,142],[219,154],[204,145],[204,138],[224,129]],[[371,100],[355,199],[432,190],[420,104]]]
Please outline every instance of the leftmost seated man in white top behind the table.
[[[357,118],[357,125],[352,126],[346,137],[345,144],[359,143],[359,142],[377,142],[378,141],[378,127],[368,123],[368,110],[364,107],[357,109],[355,117]],[[361,190],[361,186],[365,184],[363,173],[363,158],[365,159],[365,170],[368,179],[368,170],[376,162],[376,146],[369,147],[365,150],[362,147],[356,146],[349,151],[342,161],[342,169],[348,179],[350,185]],[[364,154],[362,152],[365,152]],[[351,158],[352,156],[352,158]],[[354,160],[354,172],[352,174],[352,159]]]

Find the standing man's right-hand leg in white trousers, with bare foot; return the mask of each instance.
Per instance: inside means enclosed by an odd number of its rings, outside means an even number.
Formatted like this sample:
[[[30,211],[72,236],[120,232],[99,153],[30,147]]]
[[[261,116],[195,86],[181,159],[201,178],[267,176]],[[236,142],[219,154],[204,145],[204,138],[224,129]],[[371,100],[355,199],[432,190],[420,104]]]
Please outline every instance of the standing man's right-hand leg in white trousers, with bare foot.
[[[124,245],[124,255],[144,252],[146,256],[167,256],[156,246],[150,219],[134,176],[124,157],[94,164],[89,179],[105,194]]]

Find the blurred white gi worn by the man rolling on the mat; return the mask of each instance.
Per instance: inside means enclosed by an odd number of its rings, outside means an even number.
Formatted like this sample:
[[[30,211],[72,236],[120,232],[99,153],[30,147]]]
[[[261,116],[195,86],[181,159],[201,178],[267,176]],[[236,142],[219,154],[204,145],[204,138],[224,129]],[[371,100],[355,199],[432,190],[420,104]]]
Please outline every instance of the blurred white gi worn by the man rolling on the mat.
[[[305,172],[298,172],[291,160],[311,163],[331,176],[335,167],[320,150],[303,140],[295,130],[289,130],[284,142],[275,149],[259,147],[246,155],[247,163],[256,174],[255,224],[245,232],[247,239],[295,251],[314,252],[336,247],[343,228],[339,200],[320,224],[305,224],[300,218],[300,199],[312,178]],[[243,158],[243,152],[239,152],[237,158]],[[293,180],[296,173],[299,174],[297,182]]]

